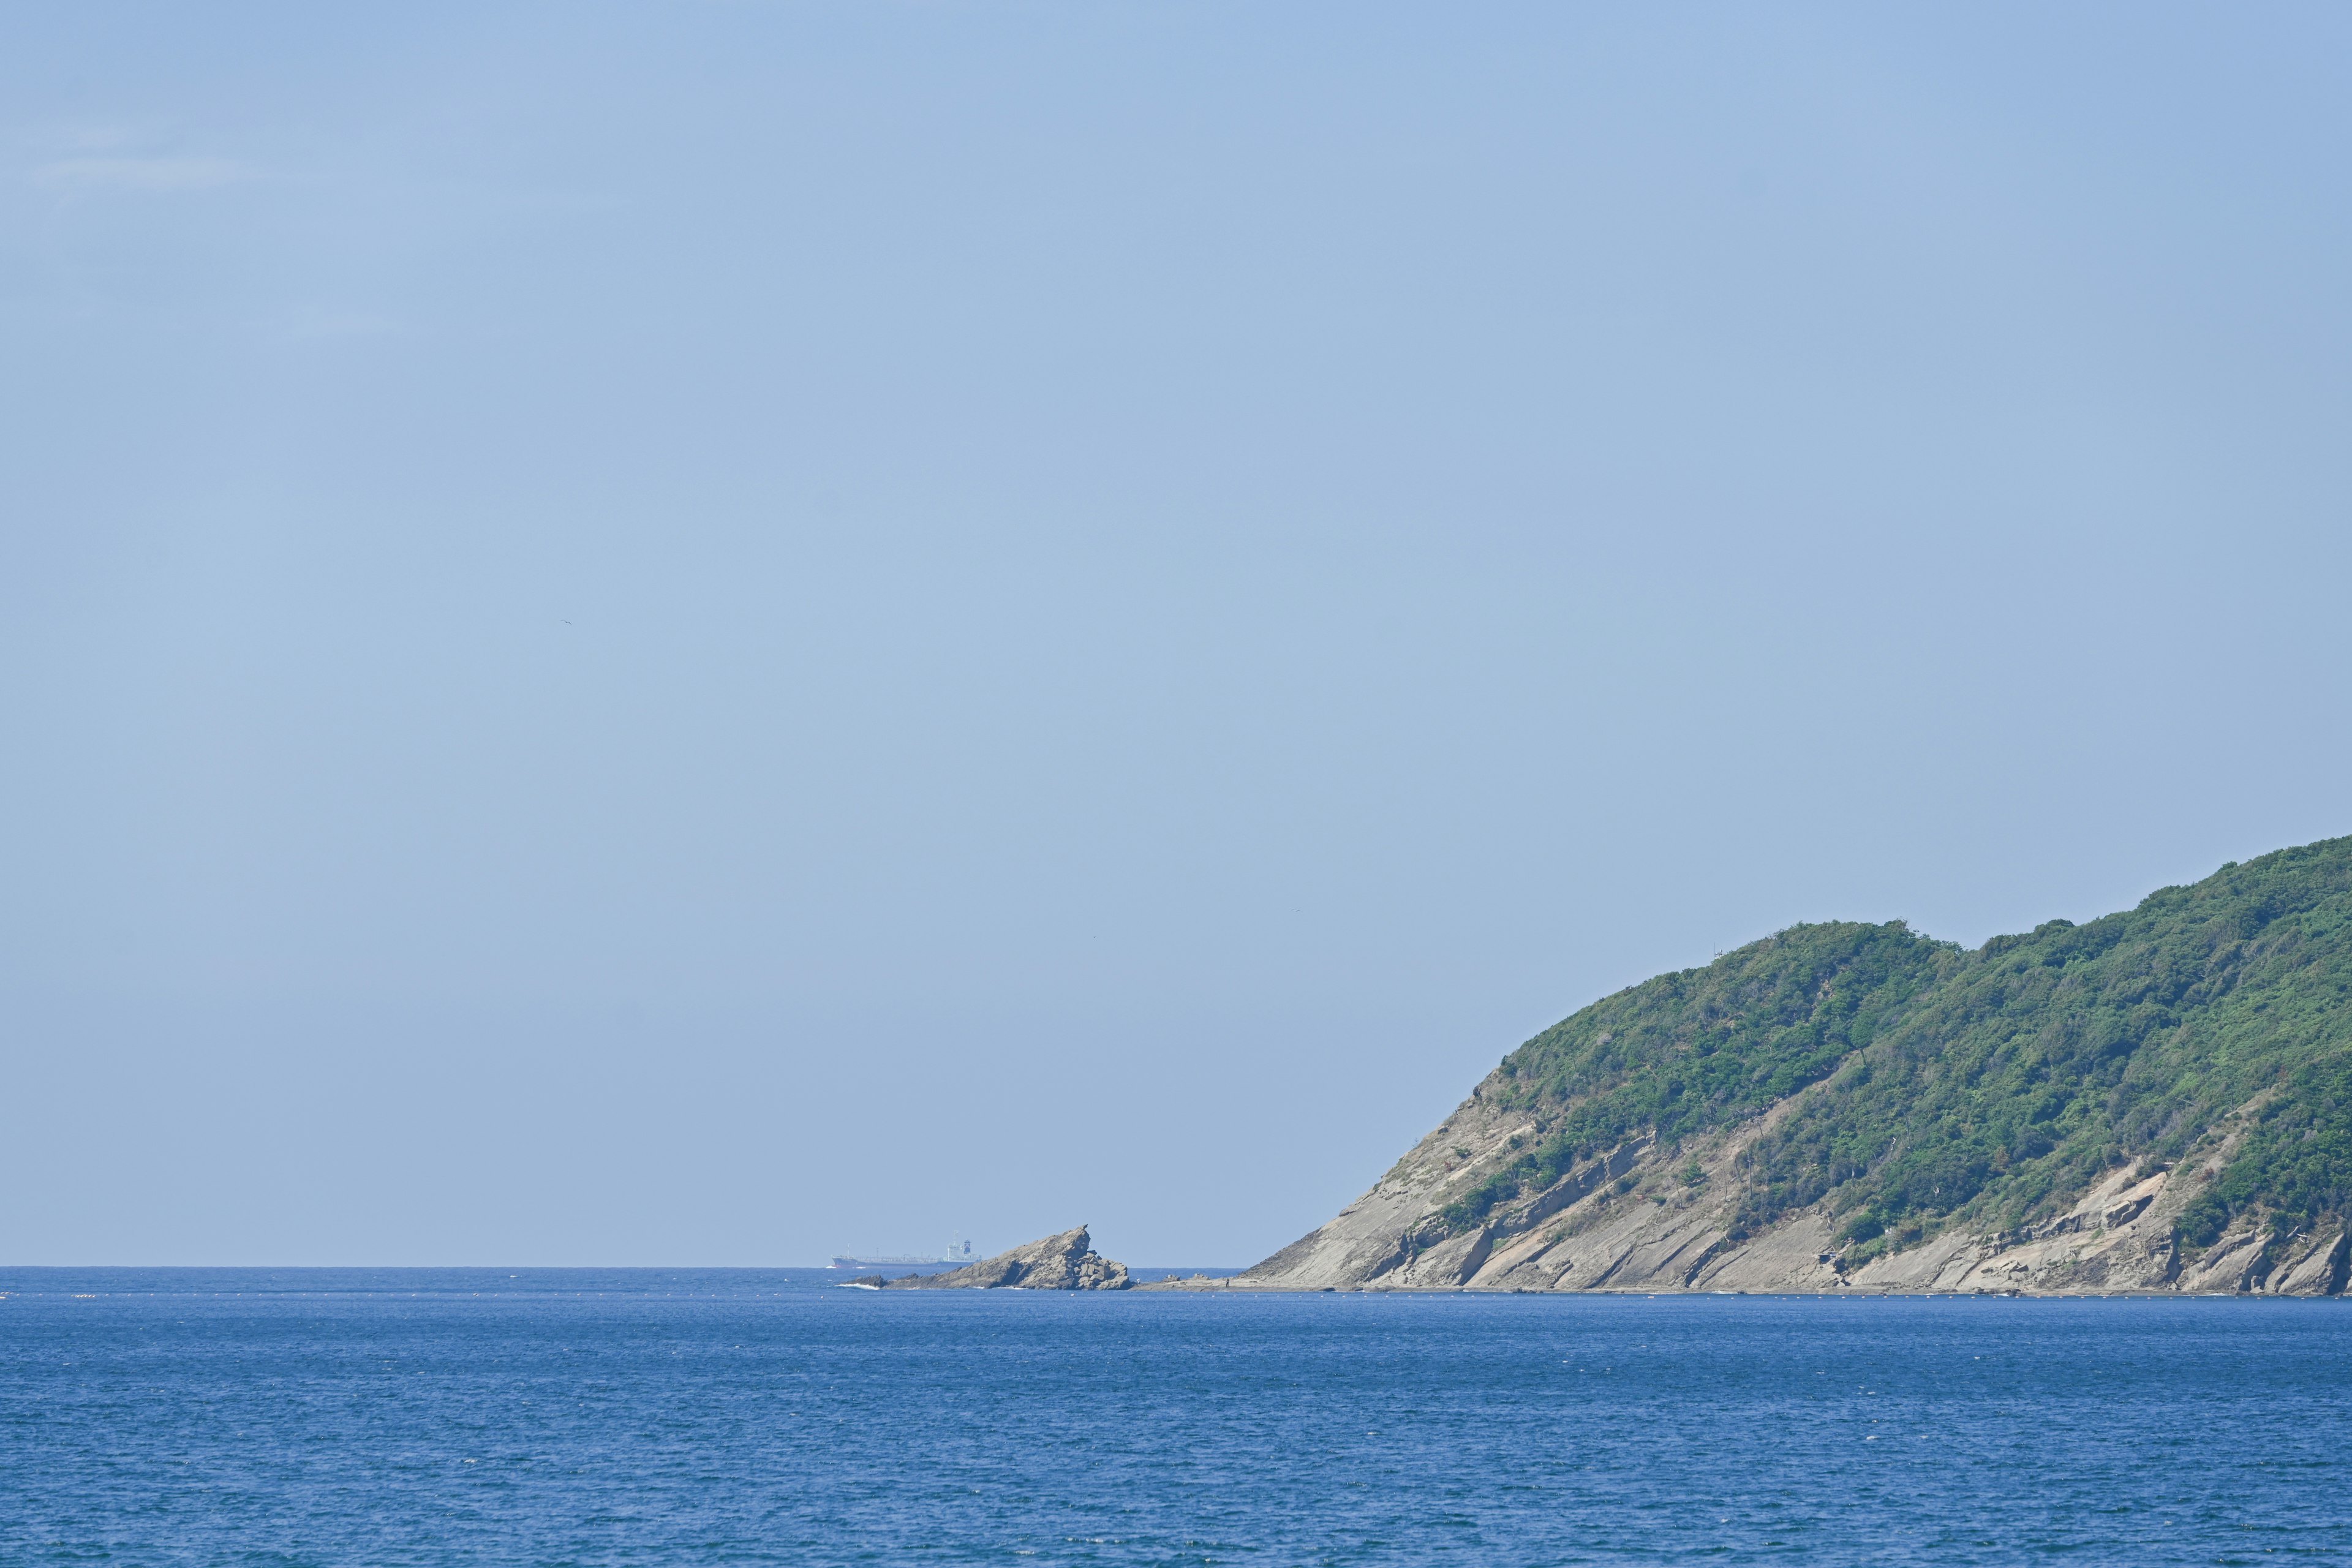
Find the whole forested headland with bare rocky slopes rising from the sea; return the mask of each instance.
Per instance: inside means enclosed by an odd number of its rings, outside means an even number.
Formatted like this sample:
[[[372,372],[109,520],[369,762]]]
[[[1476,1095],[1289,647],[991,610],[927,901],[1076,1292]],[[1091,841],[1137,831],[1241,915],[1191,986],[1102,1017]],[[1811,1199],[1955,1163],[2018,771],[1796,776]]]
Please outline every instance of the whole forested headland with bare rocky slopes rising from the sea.
[[[1178,1288],[2338,1295],[2352,839],[1964,952],[1792,926],[1545,1030]]]

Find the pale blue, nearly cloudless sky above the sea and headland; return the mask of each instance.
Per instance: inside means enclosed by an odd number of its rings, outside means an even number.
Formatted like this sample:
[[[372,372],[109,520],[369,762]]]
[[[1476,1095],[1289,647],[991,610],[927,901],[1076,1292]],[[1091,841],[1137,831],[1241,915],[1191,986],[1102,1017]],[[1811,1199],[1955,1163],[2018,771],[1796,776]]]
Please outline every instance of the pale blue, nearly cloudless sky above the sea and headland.
[[[1661,969],[2352,832],[2347,61],[14,7],[0,1260],[1240,1265]]]

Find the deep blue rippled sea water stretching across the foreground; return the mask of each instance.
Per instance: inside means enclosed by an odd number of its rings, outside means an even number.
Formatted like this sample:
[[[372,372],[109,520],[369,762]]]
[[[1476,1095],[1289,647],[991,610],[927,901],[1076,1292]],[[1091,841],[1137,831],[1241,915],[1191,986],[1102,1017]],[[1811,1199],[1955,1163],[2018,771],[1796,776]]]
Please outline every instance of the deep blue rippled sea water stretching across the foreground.
[[[2352,1309],[0,1272],[5,1563],[2352,1556]]]

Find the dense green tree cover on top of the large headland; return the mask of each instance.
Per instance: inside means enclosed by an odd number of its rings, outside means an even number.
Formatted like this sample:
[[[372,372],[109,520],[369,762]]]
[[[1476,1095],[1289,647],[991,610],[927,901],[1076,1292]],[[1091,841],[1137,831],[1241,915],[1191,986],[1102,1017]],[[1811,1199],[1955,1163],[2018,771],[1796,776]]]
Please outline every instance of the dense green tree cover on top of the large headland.
[[[2183,1218],[2277,1234],[2352,1213],[2352,839],[2286,849],[2084,926],[1976,952],[1889,926],[1792,926],[1588,1006],[1484,1093],[1538,1133],[1449,1229],[1628,1138],[1663,1147],[1802,1103],[1745,1157],[1736,1229],[1825,1204],[1860,1255],[2067,1206],[2249,1112]]]

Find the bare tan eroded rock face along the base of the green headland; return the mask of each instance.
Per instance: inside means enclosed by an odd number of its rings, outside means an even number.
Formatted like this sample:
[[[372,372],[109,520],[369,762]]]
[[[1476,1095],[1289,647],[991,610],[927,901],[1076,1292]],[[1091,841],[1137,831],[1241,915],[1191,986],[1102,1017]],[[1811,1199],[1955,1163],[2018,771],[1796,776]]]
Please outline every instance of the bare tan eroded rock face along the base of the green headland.
[[[1491,1081],[1489,1081],[1491,1084]],[[2340,1295],[2338,1227],[2272,1246],[2260,1218],[2213,1246],[2178,1239],[2180,1211],[2237,1147],[2225,1131],[2171,1168],[2124,1166],[2063,1213],[2011,1232],[1947,1229],[1907,1251],[1849,1265],[1832,1220],[1809,1208],[1731,1239],[1740,1154],[1804,1095],[1705,1145],[1630,1140],[1475,1229],[1446,1234],[1446,1204],[1517,1154],[1534,1126],[1498,1112],[1486,1086],[1329,1225],[1225,1281],[1169,1288],[1258,1291],[1773,1291],[1773,1293],[2272,1293]],[[1157,1288],[1157,1286],[1145,1286]]]

